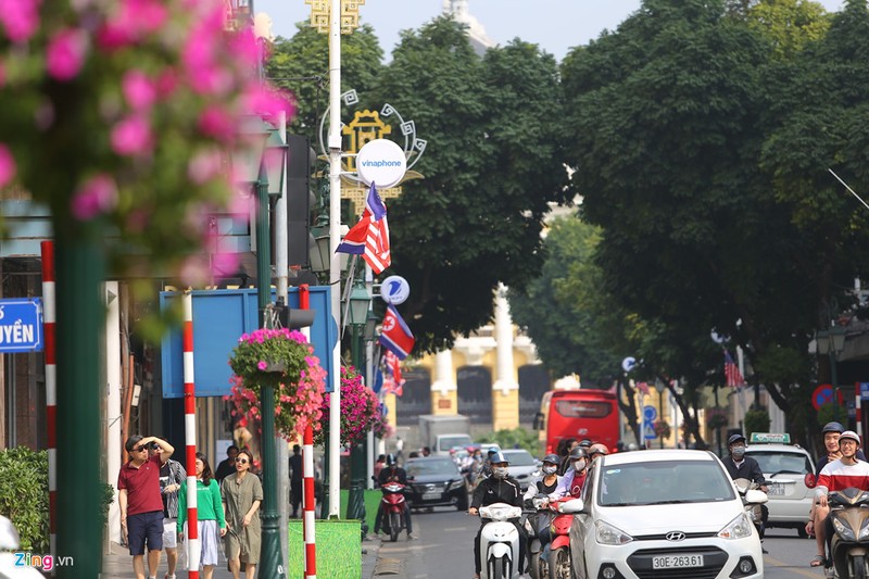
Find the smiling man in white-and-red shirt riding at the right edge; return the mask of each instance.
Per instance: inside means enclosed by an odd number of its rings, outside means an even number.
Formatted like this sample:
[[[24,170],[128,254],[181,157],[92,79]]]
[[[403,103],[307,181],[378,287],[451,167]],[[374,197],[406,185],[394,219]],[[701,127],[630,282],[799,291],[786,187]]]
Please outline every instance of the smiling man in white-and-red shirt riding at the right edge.
[[[857,436],[857,432],[845,430],[839,436],[839,452],[842,453],[842,457],[828,463],[821,469],[821,476],[818,477],[818,484],[815,487],[816,511],[823,509],[829,513],[827,494],[830,491],[841,491],[849,487],[869,491],[869,463],[857,458],[859,448],[860,437]],[[833,523],[830,517],[826,517],[823,524],[816,525],[815,532],[829,551],[830,539],[833,536]],[[809,565],[819,567],[821,564],[829,567],[832,562],[824,554],[819,553]]]

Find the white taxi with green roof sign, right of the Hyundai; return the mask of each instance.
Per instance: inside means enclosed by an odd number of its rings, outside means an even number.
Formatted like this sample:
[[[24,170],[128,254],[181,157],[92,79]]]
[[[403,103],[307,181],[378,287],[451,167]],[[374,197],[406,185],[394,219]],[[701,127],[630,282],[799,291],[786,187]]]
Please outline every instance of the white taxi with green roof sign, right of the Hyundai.
[[[805,538],[806,518],[815,496],[815,491],[806,487],[806,475],[815,473],[815,463],[805,449],[789,444],[790,441],[788,435],[753,432],[745,455],[757,461],[764,478],[771,481],[767,484],[767,527],[796,529]]]

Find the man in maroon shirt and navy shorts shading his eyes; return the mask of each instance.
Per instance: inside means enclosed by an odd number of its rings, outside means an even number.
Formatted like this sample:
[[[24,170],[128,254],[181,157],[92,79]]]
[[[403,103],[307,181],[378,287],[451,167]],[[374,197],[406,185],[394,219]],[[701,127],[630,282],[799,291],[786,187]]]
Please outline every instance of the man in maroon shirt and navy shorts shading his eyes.
[[[149,455],[151,443],[159,453]],[[124,443],[129,461],[117,474],[117,504],[121,506],[121,531],[133,555],[136,579],[144,579],[144,547],[148,545],[148,577],[156,579],[163,550],[163,498],[160,468],[175,448],[158,437],[134,435]]]

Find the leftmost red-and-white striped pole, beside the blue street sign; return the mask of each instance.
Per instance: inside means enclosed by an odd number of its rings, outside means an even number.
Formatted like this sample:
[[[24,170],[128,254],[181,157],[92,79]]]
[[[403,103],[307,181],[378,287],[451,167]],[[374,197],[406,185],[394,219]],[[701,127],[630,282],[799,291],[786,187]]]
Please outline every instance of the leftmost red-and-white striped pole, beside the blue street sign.
[[[49,549],[58,554],[58,357],[55,348],[54,242],[42,241],[42,328],[46,336],[46,421],[48,423]],[[52,571],[52,575],[53,571]]]

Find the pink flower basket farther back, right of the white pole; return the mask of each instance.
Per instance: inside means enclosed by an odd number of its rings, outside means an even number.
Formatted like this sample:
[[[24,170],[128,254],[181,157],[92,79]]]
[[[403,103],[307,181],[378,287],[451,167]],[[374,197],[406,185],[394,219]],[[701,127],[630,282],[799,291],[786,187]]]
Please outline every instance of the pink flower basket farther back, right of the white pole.
[[[323,399],[322,424],[329,424],[329,398]],[[370,388],[362,382],[362,375],[353,366],[341,367],[341,445],[362,442],[373,431],[385,438],[391,433],[382,405]],[[314,443],[326,442],[326,429],[314,433]]]

